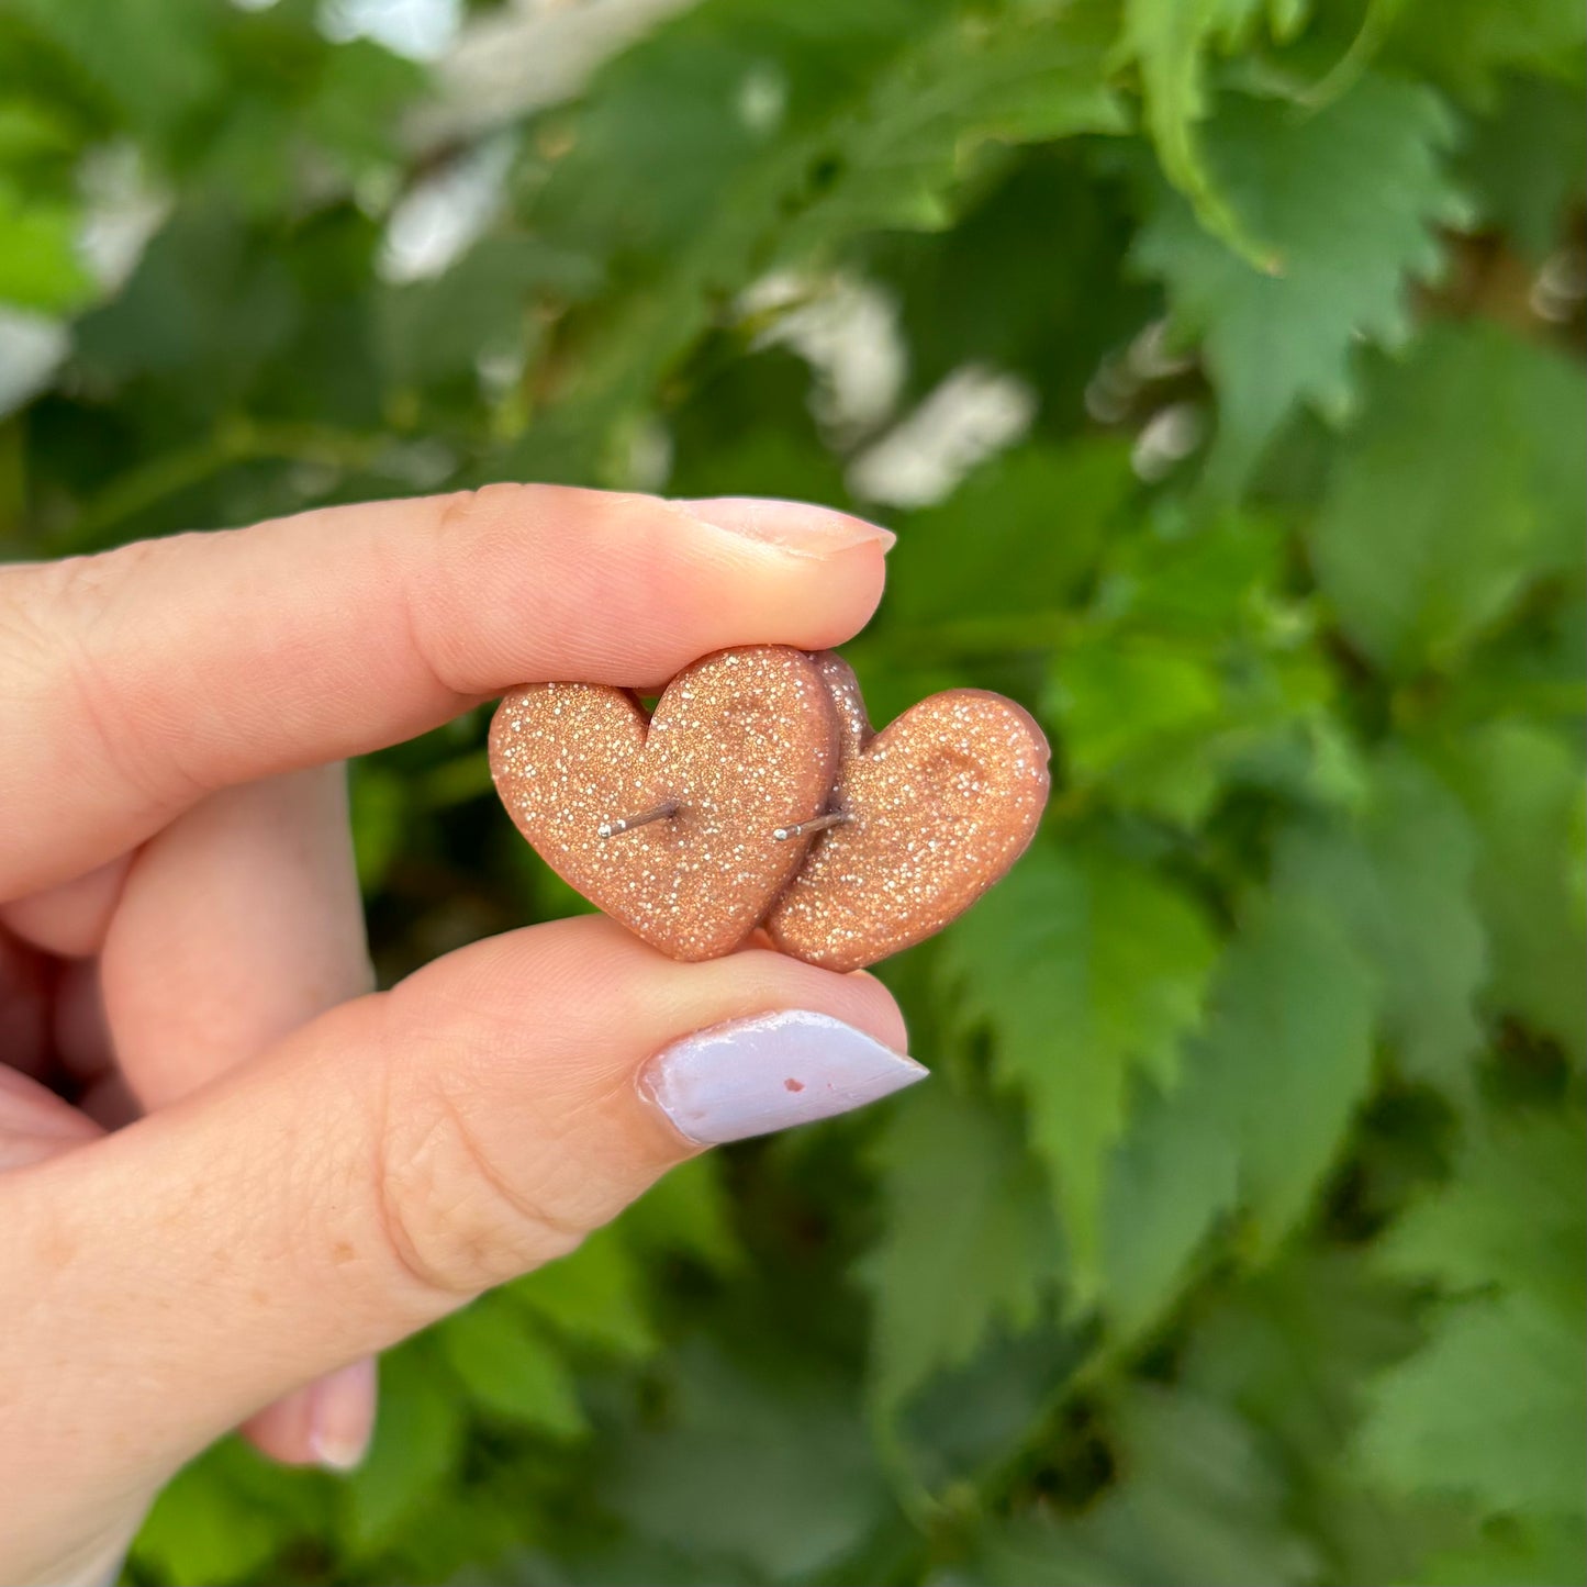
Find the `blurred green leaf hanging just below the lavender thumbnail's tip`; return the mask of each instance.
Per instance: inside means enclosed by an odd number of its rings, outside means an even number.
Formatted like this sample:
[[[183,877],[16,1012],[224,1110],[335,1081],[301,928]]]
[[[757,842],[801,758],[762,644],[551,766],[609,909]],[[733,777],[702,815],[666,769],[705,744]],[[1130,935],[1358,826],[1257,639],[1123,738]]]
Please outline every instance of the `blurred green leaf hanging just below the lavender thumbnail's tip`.
[[[892,1414],[995,1327],[1028,1330],[1060,1263],[1047,1187],[1003,1111],[938,1073],[892,1111],[876,1147],[884,1233],[860,1268],[871,1297],[871,1393]]]

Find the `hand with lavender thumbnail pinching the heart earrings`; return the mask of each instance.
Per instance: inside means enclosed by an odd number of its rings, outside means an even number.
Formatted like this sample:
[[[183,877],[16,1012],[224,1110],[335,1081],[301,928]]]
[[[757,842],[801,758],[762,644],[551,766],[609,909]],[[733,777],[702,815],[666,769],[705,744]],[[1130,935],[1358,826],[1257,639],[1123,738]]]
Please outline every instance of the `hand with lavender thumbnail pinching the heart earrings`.
[[[340,767],[527,679],[836,644],[884,549],[819,508],[495,486],[0,570],[0,1581],[102,1577],[248,1417],[351,1463],[360,1363],[819,1114],[790,1062],[843,1106],[919,1078],[878,982],[600,917],[371,993]]]

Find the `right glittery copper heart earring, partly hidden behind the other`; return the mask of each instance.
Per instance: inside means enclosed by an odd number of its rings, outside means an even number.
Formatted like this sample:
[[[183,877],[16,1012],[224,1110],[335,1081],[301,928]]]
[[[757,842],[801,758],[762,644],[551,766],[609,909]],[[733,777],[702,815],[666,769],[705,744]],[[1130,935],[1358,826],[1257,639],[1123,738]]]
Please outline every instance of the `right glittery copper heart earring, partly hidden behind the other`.
[[[1025,852],[1047,803],[1047,741],[982,689],[949,689],[871,735],[847,662],[817,663],[843,724],[830,808],[767,919],[786,954],[859,970],[940,932]]]

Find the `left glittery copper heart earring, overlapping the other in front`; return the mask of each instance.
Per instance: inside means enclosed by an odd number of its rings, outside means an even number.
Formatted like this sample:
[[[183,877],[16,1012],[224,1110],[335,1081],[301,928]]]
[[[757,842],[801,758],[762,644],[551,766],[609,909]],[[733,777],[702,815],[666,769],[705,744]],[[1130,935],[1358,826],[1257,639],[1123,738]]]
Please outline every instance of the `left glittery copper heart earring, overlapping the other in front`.
[[[490,722],[490,774],[517,830],[613,919],[673,959],[730,954],[787,886],[809,840],[771,833],[825,809],[838,722],[816,659],[719,651],[646,719],[627,689],[525,684]],[[676,801],[601,838],[601,822]]]

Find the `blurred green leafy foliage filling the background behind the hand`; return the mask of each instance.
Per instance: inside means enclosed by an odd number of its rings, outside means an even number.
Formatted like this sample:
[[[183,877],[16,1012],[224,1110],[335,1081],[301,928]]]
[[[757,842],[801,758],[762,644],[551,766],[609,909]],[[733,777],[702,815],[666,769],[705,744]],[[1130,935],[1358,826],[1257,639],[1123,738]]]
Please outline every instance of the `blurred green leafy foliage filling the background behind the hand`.
[[[0,5],[8,555],[497,478],[849,503],[876,719],[982,684],[1057,754],[884,971],[930,1086],[397,1351],[351,1481],[214,1451],[130,1581],[1587,1579],[1582,37]],[[387,978],[581,908],[482,727],[354,768]]]

